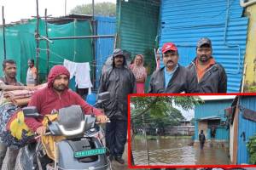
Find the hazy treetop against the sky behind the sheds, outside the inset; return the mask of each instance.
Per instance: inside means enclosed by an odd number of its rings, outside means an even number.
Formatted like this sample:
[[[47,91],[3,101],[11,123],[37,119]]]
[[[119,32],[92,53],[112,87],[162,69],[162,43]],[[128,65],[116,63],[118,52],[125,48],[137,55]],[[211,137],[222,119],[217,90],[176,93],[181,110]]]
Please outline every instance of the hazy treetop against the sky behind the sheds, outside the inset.
[[[100,16],[115,16],[114,3],[96,3],[95,14]],[[92,4],[78,5],[71,9],[70,14],[92,14]]]

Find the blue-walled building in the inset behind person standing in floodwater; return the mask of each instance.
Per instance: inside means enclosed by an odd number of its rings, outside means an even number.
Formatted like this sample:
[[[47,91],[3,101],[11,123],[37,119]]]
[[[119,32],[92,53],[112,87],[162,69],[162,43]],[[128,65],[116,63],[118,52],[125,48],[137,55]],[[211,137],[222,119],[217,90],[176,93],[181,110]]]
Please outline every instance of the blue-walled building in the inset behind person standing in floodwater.
[[[224,109],[230,107],[234,98],[234,96],[218,96],[216,99],[203,99],[203,104],[195,106],[196,144],[199,143],[198,135],[203,130],[207,146],[228,147],[230,136],[229,129],[225,126]]]

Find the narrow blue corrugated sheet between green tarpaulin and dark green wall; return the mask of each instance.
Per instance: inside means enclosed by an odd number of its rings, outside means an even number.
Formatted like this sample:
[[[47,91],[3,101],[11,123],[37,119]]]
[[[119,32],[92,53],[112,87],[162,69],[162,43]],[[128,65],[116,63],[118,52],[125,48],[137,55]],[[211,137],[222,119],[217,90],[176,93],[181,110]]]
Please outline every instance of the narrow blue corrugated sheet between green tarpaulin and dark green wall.
[[[98,35],[115,35],[115,17],[96,17]],[[114,38],[97,38],[96,40],[96,87],[102,72],[102,65],[113,53]]]

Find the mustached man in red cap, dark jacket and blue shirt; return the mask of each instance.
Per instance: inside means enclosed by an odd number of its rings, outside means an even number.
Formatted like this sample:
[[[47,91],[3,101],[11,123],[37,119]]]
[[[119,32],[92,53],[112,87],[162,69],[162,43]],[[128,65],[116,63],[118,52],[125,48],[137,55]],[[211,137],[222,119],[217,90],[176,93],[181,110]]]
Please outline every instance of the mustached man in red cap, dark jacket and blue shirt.
[[[165,66],[154,71],[148,93],[151,94],[178,94],[196,93],[196,77],[189,70],[179,64],[177,47],[172,42],[166,42],[162,48]]]

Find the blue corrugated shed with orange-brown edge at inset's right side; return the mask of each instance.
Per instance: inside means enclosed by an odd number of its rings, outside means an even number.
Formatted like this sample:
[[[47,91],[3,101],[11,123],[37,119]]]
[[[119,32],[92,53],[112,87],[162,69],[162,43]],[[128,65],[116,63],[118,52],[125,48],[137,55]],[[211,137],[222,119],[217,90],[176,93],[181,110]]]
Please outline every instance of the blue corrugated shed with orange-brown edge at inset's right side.
[[[256,96],[237,96],[226,111],[230,125],[230,161],[233,164],[250,163],[247,143],[256,136]]]

